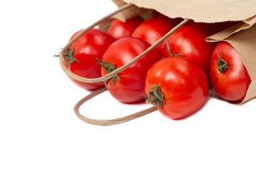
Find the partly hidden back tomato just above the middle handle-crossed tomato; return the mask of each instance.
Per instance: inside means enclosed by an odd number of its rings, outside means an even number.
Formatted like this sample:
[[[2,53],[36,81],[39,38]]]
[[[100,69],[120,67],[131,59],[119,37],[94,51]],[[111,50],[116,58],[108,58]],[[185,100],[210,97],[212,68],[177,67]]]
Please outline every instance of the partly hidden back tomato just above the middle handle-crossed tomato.
[[[132,37],[146,40],[152,45],[172,28],[174,25],[163,17],[151,18],[141,23],[132,33]],[[156,50],[161,50],[161,44],[156,47]]]

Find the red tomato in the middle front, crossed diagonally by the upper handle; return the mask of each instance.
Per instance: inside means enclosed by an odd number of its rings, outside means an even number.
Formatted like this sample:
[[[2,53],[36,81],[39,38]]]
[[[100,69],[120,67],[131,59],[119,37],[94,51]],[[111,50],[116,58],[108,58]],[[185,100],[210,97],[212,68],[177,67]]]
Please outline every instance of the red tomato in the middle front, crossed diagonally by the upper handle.
[[[139,38],[122,38],[112,43],[102,57],[102,76],[127,64],[148,47],[150,47],[149,42]],[[139,61],[106,81],[108,91],[114,98],[123,103],[142,101],[144,99],[146,73],[151,65],[160,59],[159,52],[155,49],[151,50]],[[107,67],[108,71],[104,67]]]

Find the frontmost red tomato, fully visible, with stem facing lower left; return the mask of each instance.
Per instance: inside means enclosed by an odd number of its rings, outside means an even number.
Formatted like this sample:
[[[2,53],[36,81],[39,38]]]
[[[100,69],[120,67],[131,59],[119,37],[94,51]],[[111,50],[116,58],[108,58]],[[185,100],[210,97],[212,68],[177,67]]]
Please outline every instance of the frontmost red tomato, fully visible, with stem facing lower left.
[[[171,119],[198,111],[206,102],[208,89],[203,69],[184,57],[166,57],[146,74],[146,102]]]

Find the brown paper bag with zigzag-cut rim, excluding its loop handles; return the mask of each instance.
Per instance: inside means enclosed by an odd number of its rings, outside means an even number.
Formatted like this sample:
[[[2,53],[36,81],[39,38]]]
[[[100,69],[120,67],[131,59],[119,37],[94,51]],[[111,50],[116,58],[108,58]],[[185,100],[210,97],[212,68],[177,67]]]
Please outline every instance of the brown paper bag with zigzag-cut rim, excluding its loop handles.
[[[238,25],[222,30],[206,38],[208,42],[230,42],[238,51],[252,80],[244,100],[256,96],[256,0],[112,0],[117,5],[134,4],[137,9],[128,8],[125,13],[116,16],[126,20],[147,9],[158,11],[170,18],[189,18],[195,22],[218,23],[224,21],[242,21]],[[136,8],[136,7],[134,7]],[[141,10],[138,10],[141,8]]]

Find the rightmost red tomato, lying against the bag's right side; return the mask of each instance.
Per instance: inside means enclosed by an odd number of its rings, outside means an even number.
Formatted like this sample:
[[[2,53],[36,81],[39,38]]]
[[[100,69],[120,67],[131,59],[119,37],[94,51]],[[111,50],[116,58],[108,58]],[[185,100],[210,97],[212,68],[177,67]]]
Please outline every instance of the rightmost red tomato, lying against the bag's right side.
[[[228,42],[219,42],[210,61],[210,81],[216,93],[228,101],[242,101],[251,83],[238,52]]]

